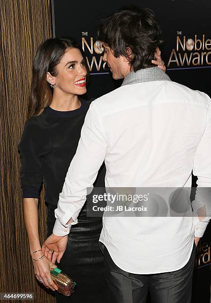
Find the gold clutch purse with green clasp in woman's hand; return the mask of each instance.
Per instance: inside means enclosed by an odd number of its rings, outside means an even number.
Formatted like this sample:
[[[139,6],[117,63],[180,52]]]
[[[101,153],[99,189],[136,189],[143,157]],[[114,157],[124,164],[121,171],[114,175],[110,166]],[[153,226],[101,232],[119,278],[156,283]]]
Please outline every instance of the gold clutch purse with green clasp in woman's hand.
[[[58,287],[57,292],[67,297],[70,296],[75,290],[76,283],[66,274],[62,273],[58,267],[51,268],[50,272],[53,282]]]

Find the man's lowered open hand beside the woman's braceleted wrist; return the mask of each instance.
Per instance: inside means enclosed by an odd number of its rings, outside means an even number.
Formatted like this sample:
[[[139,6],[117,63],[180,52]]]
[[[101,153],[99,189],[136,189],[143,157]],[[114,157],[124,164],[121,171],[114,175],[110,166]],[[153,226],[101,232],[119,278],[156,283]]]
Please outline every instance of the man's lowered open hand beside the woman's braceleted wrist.
[[[46,239],[42,246],[45,256],[54,264],[55,261],[60,262],[63,253],[67,247],[68,236],[59,237],[54,234]]]

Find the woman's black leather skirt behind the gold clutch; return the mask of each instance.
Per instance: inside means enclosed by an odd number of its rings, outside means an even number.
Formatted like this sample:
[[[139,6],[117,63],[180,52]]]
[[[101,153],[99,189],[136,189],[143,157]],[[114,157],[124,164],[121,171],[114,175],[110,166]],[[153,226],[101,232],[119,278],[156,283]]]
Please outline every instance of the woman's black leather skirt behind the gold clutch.
[[[48,205],[48,236],[53,231],[55,208],[54,205]],[[77,288],[70,297],[55,292],[57,303],[106,302],[104,259],[98,242],[101,230],[102,218],[87,217],[85,204],[79,214],[78,224],[71,228],[66,251],[60,263],[56,263],[77,283]]]

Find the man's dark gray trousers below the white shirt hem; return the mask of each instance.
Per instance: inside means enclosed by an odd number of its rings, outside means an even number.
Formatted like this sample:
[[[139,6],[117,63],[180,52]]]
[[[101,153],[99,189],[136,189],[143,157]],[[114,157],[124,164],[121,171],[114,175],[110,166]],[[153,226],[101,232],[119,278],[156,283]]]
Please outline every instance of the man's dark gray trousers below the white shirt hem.
[[[196,246],[188,263],[181,269],[160,274],[132,274],[120,269],[111,259],[106,246],[105,276],[109,303],[146,303],[148,291],[152,303],[190,303]]]

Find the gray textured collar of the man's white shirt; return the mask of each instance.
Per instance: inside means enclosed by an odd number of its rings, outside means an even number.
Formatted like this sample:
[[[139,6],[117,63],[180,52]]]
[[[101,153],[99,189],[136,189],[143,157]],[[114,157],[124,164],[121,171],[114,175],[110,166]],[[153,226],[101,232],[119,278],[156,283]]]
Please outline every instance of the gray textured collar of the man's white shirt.
[[[135,84],[139,82],[151,81],[171,81],[171,79],[161,69],[156,67],[149,67],[139,69],[136,72],[131,71],[125,78],[121,86]]]

